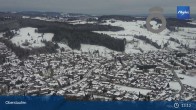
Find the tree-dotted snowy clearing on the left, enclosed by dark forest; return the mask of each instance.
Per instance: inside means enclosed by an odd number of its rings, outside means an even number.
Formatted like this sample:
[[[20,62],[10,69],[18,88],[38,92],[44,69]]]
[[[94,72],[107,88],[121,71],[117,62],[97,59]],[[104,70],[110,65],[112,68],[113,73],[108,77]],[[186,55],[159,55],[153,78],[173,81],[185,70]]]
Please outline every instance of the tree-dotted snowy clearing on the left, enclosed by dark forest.
[[[37,33],[37,28],[26,27],[19,29],[11,41],[23,48],[37,48],[43,47],[45,44],[42,41],[52,41],[53,33]]]

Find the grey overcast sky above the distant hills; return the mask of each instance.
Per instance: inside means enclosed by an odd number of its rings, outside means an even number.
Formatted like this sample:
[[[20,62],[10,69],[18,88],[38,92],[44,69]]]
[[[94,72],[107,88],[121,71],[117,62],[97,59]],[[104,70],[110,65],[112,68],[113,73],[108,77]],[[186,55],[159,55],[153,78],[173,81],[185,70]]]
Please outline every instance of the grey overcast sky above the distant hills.
[[[86,14],[148,14],[159,6],[175,14],[176,6],[189,5],[196,14],[196,0],[0,0],[0,11],[52,11]]]

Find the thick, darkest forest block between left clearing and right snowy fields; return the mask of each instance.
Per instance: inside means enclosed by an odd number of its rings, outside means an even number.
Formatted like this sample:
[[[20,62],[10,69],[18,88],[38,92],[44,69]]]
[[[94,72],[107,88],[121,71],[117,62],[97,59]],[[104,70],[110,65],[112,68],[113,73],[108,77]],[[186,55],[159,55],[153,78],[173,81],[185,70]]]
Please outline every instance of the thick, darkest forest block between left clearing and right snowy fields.
[[[121,52],[125,50],[125,41],[123,39],[90,31],[61,31],[56,33],[52,40],[67,43],[72,49],[80,49],[81,44],[90,44],[104,46]]]

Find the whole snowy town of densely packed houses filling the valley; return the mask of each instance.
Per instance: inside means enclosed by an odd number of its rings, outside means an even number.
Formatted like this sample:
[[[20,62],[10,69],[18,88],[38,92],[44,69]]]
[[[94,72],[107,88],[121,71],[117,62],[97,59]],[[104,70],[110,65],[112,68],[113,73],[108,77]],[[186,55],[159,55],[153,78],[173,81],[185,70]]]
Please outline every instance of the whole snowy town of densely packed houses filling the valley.
[[[182,91],[169,84],[178,82],[174,69],[195,70],[195,55],[179,57],[176,52],[156,51],[105,58],[66,50],[20,60],[0,43],[0,94],[63,95],[84,100],[195,100],[194,87],[183,84]]]

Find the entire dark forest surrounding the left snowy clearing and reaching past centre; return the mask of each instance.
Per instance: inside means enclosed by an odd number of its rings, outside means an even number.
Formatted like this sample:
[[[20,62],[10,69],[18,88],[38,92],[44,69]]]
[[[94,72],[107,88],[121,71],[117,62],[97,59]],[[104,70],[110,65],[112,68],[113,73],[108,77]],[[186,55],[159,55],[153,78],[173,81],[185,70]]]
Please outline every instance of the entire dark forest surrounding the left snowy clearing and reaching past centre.
[[[3,21],[5,22],[5,21]],[[17,25],[15,25],[17,24]],[[0,24],[1,25],[1,24]],[[3,24],[2,24],[3,25]],[[13,37],[10,31],[13,28],[19,29],[23,27],[38,28],[38,33],[54,33],[53,42],[44,42],[45,47],[24,49],[13,44],[9,39]],[[92,31],[120,31],[124,30],[122,27],[99,25],[99,24],[78,24],[72,25],[61,22],[48,22],[33,19],[17,19],[6,21],[6,25],[1,28],[5,32],[4,38],[0,38],[0,42],[12,49],[19,58],[25,58],[30,54],[39,53],[54,53],[58,48],[58,42],[64,42],[72,49],[80,50],[81,44],[91,44],[104,46],[115,51],[123,52],[125,50],[125,40],[112,38],[109,35],[98,34]]]

